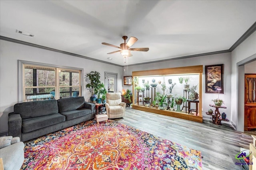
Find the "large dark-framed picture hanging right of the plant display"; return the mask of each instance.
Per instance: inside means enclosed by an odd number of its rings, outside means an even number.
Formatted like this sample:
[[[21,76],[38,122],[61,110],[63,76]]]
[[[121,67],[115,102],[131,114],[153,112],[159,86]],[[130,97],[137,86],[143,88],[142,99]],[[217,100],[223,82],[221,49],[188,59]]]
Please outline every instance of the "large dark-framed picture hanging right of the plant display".
[[[224,64],[205,66],[205,92],[224,94]]]

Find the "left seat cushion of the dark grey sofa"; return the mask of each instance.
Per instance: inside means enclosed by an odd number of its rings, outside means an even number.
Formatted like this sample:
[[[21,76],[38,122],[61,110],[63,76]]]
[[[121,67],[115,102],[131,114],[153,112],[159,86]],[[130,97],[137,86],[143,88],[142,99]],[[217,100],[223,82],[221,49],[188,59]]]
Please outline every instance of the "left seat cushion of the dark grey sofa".
[[[50,125],[55,125],[65,121],[66,118],[60,113],[54,113],[52,115],[46,115],[41,117],[33,117],[22,120],[22,132],[27,133]]]

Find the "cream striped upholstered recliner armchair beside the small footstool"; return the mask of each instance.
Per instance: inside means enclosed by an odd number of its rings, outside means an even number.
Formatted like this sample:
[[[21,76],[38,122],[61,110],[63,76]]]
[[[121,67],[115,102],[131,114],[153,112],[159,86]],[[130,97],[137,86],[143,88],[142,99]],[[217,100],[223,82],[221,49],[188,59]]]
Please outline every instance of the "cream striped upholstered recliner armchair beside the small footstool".
[[[126,103],[122,102],[121,93],[107,93],[106,111],[109,119],[124,117]]]

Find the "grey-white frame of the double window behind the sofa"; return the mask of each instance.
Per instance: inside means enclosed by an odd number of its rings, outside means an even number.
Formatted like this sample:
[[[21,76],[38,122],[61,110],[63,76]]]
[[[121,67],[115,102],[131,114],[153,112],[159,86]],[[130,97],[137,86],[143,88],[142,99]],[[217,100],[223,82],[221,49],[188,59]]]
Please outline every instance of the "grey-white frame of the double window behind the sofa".
[[[55,88],[55,99],[58,100],[60,98],[59,95],[59,90],[60,87],[64,86],[59,86],[59,72],[58,70],[76,70],[80,72],[80,85],[79,86],[67,86],[67,87],[79,87],[80,89],[80,94],[79,96],[82,96],[83,94],[83,77],[84,77],[84,69],[83,68],[76,68],[76,67],[70,67],[70,66],[59,66],[59,65],[54,65],[54,64],[45,64],[45,63],[36,63],[36,62],[31,62],[31,61],[22,61],[18,60],[18,102],[26,102],[25,101],[25,82],[24,82],[24,66],[25,65],[30,65],[30,66],[39,66],[39,67],[46,67],[46,68],[55,68],[55,86],[46,86],[47,88]],[[35,88],[37,86],[32,86],[31,88]],[[38,88],[42,88],[42,86],[38,86]]]

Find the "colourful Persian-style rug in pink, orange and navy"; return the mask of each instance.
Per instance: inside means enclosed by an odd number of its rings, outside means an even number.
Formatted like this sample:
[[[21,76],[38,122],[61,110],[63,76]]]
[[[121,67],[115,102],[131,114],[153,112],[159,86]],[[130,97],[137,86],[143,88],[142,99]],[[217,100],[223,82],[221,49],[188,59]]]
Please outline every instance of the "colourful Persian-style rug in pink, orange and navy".
[[[109,120],[25,143],[23,170],[201,170],[201,152]]]

